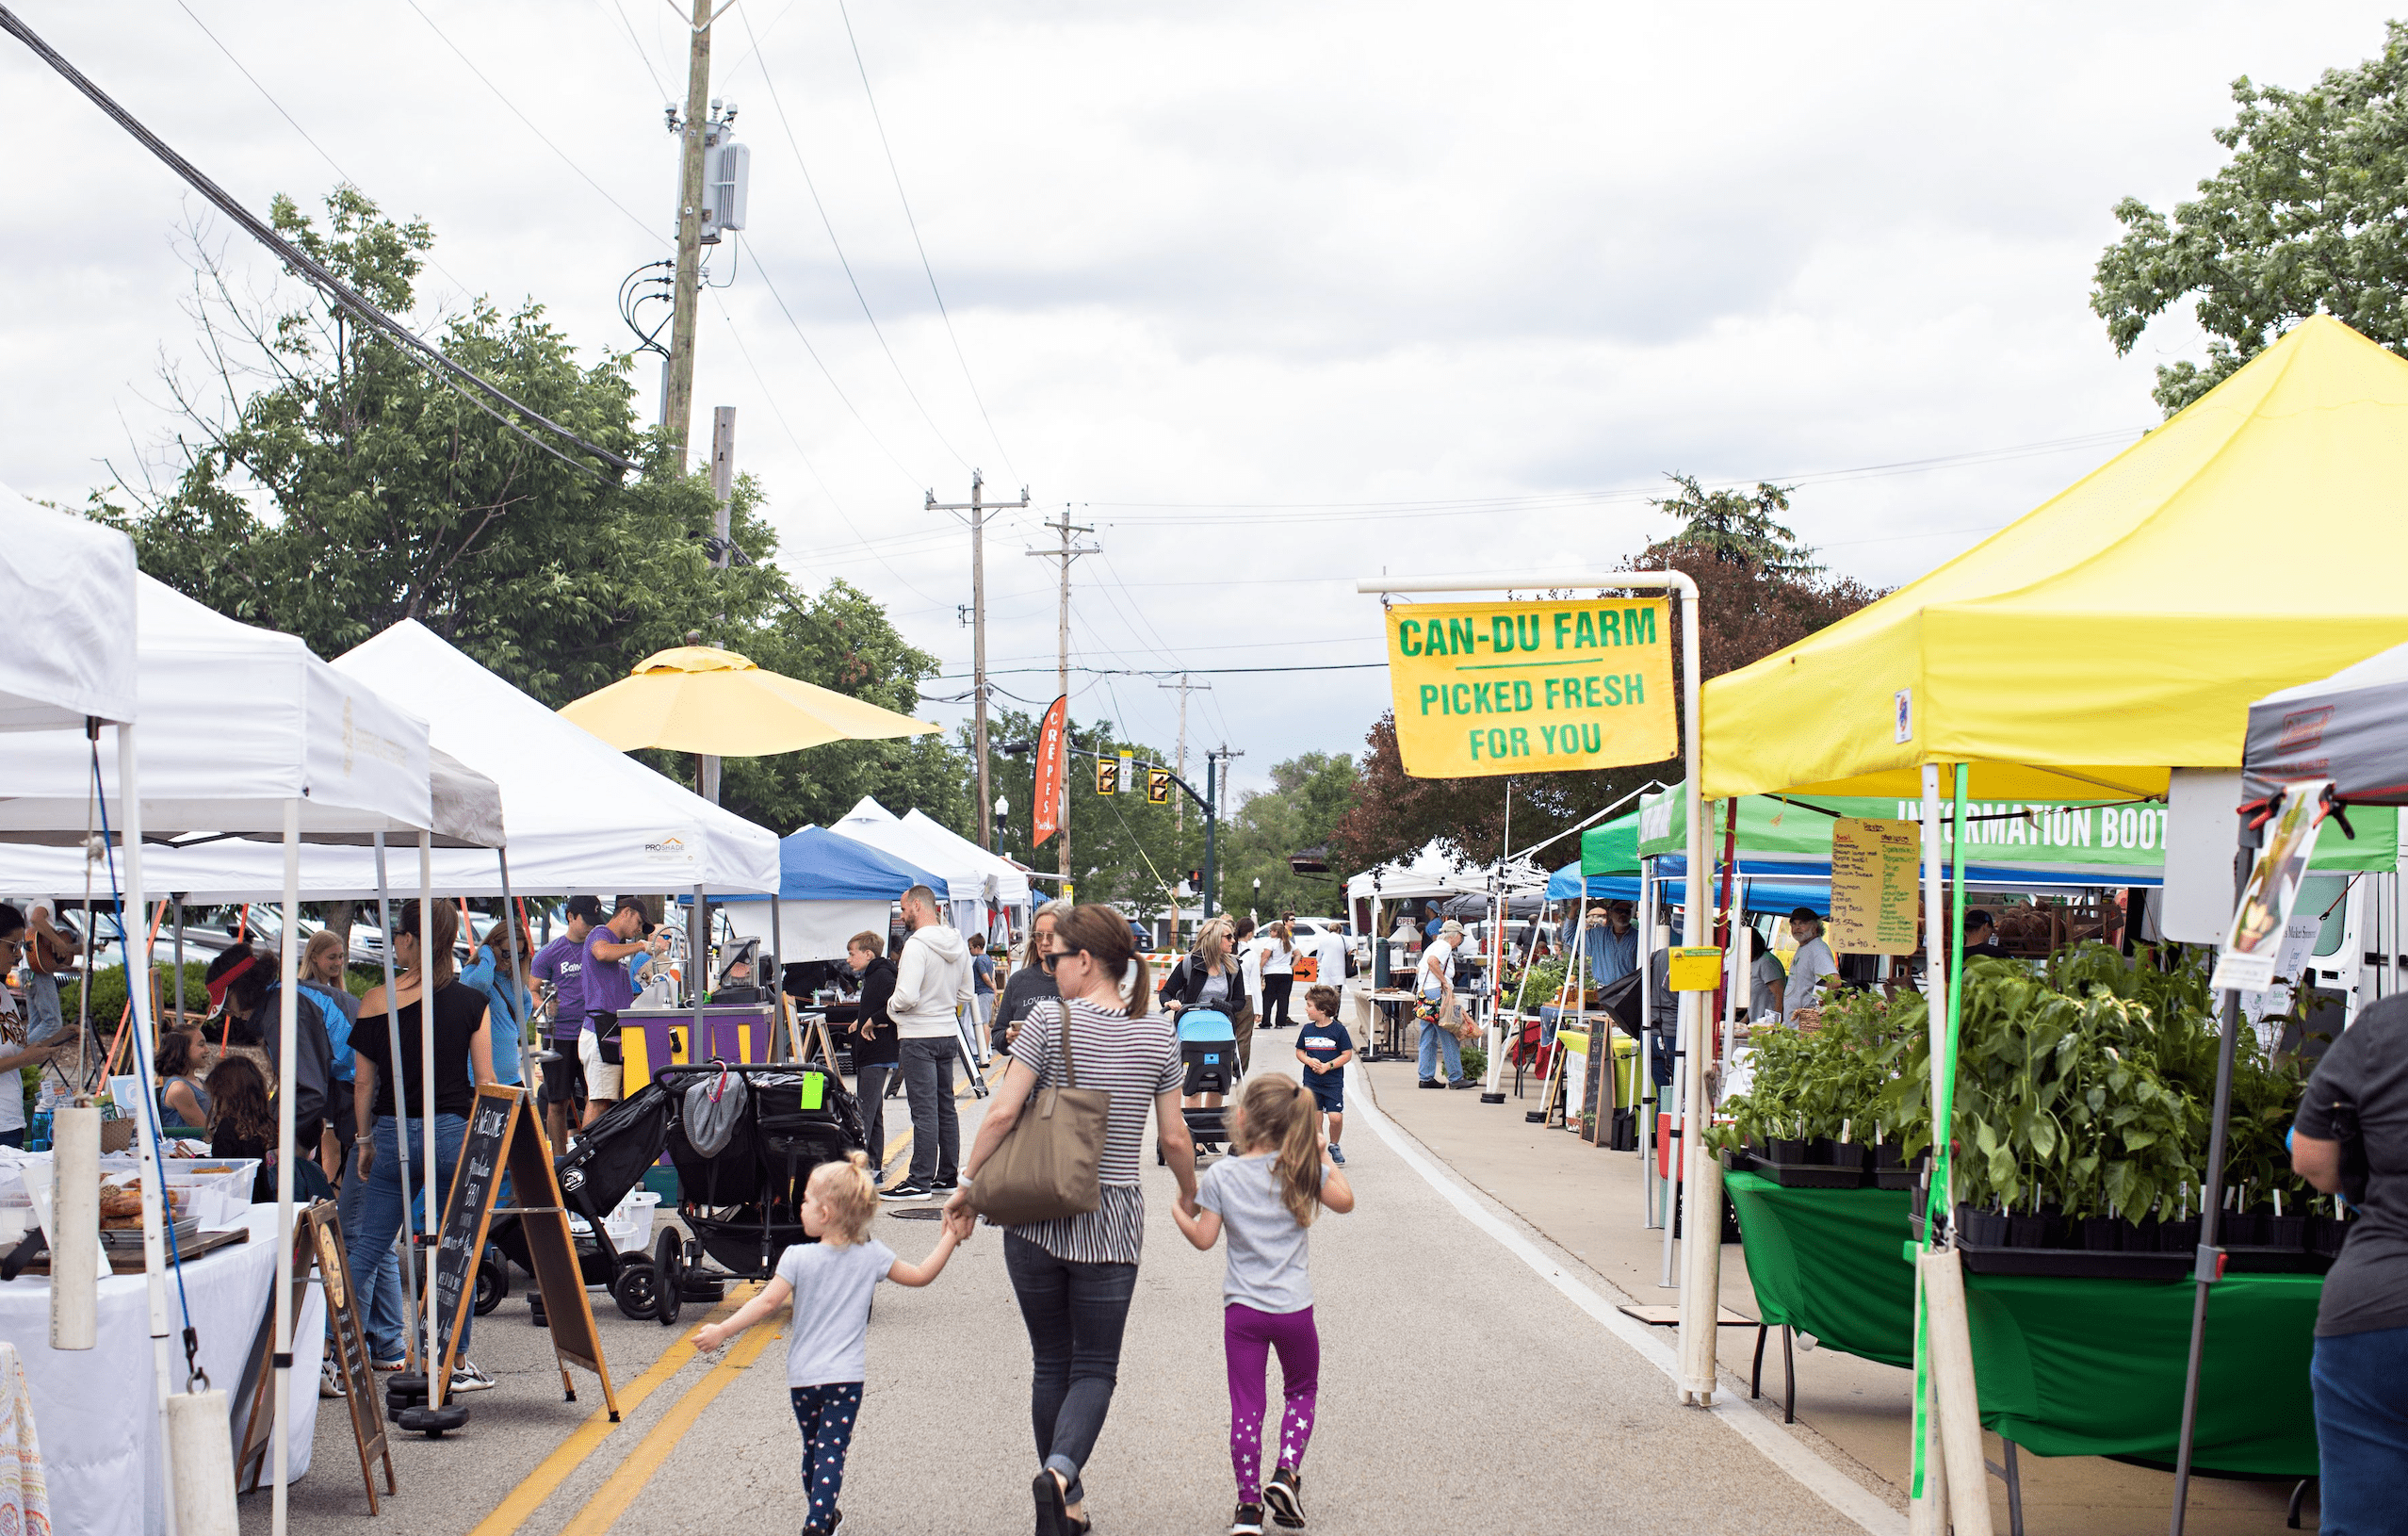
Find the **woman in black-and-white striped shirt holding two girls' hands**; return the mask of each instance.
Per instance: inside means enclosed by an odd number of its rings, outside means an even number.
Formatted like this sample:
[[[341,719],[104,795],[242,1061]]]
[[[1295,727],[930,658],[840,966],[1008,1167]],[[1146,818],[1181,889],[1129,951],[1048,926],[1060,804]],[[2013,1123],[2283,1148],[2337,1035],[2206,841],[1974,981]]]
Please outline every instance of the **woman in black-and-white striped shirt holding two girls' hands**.
[[[1168,1018],[1149,1016],[1151,977],[1137,953],[1129,922],[1112,908],[1086,903],[1055,924],[1055,982],[1060,1002],[1038,1004],[1011,1045],[1011,1067],[987,1100],[970,1156],[961,1160],[961,1189],[944,1206],[946,1225],[968,1235],[975,1225],[970,1189],[995,1156],[1028,1095],[1062,1071],[1062,1033],[1069,1030],[1072,1067],[1081,1088],[1112,1095],[1105,1132],[1103,1204],[1086,1216],[1004,1228],[1004,1274],[1028,1324],[1035,1358],[1031,1418],[1038,1459],[1033,1483],[1038,1536],[1086,1531],[1086,1488],[1079,1469],[1096,1449],[1103,1416],[1112,1406],[1120,1372],[1120,1334],[1137,1295],[1137,1259],[1146,1235],[1146,1199],[1137,1185],[1146,1110],[1180,1199],[1197,1192],[1194,1144],[1180,1115],[1178,1035]]]

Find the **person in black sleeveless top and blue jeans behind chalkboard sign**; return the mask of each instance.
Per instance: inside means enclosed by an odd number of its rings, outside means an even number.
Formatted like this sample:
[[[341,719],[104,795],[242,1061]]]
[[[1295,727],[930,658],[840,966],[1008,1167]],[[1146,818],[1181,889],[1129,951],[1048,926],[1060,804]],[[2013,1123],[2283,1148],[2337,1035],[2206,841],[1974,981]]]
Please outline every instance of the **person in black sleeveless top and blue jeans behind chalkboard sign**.
[[[354,1110],[364,1129],[359,1139],[359,1172],[368,1175],[366,1209],[359,1228],[349,1233],[349,1259],[354,1276],[373,1276],[366,1286],[366,1334],[368,1355],[383,1370],[397,1370],[402,1360],[400,1315],[400,1259],[395,1240],[402,1235],[402,1158],[409,1158],[409,1194],[421,1211],[431,1209],[429,1223],[443,1221],[443,1197],[450,1189],[453,1170],[460,1165],[460,1144],[467,1139],[467,1117],[477,1103],[477,1088],[494,1081],[494,1045],[484,1016],[484,992],[460,980],[453,963],[453,944],[460,937],[460,910],[448,900],[433,903],[433,932],[429,944],[419,944],[419,917],[426,908],[402,905],[402,920],[393,934],[395,997],[385,987],[373,987],[359,999],[359,1023],[352,1030],[352,1054],[356,1074],[352,1079]],[[426,968],[433,970],[433,1132],[436,1132],[436,1182],[433,1199],[426,1201],[419,1185],[426,1182],[424,1119],[426,1105]],[[400,1030],[400,1057],[395,1059],[395,1030]],[[395,1115],[395,1079],[409,1105],[407,1127]],[[390,1288],[383,1269],[390,1266]],[[474,1310],[472,1310],[474,1322]],[[467,1358],[470,1327],[460,1327],[460,1348],[453,1363],[450,1392],[482,1392],[494,1377],[477,1370]]]

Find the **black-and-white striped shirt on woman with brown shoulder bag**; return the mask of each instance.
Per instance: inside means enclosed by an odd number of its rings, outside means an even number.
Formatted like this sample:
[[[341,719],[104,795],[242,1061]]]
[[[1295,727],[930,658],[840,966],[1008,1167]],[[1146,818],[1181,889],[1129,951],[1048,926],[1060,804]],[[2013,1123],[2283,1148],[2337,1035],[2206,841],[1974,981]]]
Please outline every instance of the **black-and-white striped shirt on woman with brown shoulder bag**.
[[[1035,1071],[1040,1088],[1062,1081],[1062,1006],[1047,999],[1028,1009],[1021,1038],[1011,1045],[1011,1059]],[[1011,1230],[1069,1264],[1137,1264],[1146,1242],[1146,1197],[1137,1185],[1137,1158],[1146,1141],[1153,1098],[1178,1093],[1187,1076],[1180,1042],[1161,1014],[1129,1018],[1120,1009],[1100,1009],[1086,999],[1072,999],[1067,1006],[1076,1086],[1112,1095],[1103,1160],[1096,1168],[1103,1180],[1103,1204],[1086,1216],[1031,1221]]]

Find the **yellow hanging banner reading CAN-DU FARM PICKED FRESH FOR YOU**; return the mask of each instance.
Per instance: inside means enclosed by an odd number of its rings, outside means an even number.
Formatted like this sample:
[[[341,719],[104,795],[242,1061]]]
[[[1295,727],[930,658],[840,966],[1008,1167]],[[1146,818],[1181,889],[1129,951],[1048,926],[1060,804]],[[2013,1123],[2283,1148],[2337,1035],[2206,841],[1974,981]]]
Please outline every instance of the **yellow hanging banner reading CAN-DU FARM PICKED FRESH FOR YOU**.
[[[1681,751],[1662,597],[1394,604],[1387,681],[1413,778],[1616,768]]]

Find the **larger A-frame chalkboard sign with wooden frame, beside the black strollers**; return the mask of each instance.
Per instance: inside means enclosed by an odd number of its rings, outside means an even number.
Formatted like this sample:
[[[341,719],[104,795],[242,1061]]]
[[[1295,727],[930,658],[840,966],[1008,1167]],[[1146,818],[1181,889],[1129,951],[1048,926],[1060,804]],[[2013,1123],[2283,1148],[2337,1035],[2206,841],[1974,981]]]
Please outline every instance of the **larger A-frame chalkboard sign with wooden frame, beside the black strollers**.
[[[453,1170],[453,1187],[443,1201],[433,1283],[426,1288],[426,1305],[436,1307],[436,1370],[426,1375],[429,1401],[441,1404],[443,1389],[450,1384],[460,1353],[460,1329],[467,1327],[470,1307],[477,1305],[477,1264],[484,1259],[486,1233],[494,1225],[494,1197],[508,1175],[513,1199],[535,1201],[508,1206],[501,1213],[518,1216],[527,1237],[527,1259],[535,1264],[535,1283],[551,1329],[551,1353],[561,1367],[561,1396],[571,1404],[578,1401],[568,1367],[580,1365],[602,1377],[602,1401],[609,1406],[612,1423],[619,1423],[619,1394],[612,1392],[609,1370],[602,1363],[602,1336],[595,1329],[592,1300],[585,1295],[585,1276],[578,1269],[578,1247],[568,1233],[568,1206],[561,1204],[551,1148],[544,1144],[537,1117],[525,1112],[525,1088],[489,1083],[477,1088],[477,1103],[470,1107],[460,1165]]]

